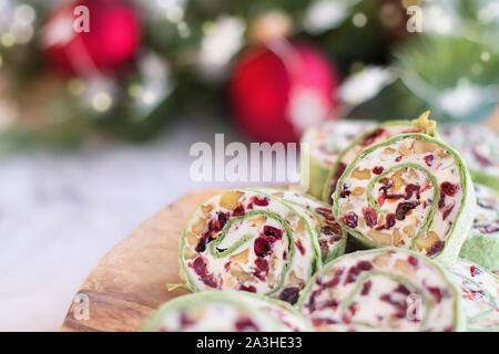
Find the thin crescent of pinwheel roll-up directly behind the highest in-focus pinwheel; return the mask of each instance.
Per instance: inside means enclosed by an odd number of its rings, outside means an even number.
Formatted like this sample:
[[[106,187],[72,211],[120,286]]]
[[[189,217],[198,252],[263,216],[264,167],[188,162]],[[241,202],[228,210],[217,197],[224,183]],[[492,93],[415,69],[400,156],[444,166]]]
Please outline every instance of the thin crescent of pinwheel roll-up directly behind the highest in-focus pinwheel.
[[[415,121],[391,121],[378,125],[357,137],[348,147],[346,147],[336,159],[336,163],[328,171],[326,183],[323,187],[323,200],[333,202],[333,194],[336,189],[339,177],[345,168],[364,149],[381,143],[390,137],[406,133],[422,133],[435,136],[435,121],[428,119],[429,112],[425,112]]]

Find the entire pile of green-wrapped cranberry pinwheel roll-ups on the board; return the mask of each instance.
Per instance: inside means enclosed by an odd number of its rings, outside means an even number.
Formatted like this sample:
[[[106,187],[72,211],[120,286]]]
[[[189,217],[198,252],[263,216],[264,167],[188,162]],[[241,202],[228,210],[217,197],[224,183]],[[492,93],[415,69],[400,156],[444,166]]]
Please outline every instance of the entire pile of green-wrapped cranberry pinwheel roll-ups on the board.
[[[499,331],[498,135],[428,114],[313,127],[299,188],[201,205],[179,250],[193,294],[144,330]]]

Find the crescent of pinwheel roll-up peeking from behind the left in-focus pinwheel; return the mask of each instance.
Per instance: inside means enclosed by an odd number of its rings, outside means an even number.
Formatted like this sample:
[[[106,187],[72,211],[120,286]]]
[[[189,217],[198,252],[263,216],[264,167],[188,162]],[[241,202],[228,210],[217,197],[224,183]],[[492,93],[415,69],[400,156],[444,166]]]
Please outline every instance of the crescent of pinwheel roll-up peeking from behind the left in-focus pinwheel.
[[[317,232],[323,263],[345,253],[347,235],[336,222],[329,206],[295,190],[269,188],[258,188],[257,190],[269,192],[309,217]]]

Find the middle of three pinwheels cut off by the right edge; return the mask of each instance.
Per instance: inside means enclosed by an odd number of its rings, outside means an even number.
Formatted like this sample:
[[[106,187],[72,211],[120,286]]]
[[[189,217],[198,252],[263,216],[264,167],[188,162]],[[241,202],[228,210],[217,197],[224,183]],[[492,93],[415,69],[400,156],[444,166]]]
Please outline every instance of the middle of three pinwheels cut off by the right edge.
[[[499,274],[499,196],[475,184],[477,208],[473,226],[459,257]]]

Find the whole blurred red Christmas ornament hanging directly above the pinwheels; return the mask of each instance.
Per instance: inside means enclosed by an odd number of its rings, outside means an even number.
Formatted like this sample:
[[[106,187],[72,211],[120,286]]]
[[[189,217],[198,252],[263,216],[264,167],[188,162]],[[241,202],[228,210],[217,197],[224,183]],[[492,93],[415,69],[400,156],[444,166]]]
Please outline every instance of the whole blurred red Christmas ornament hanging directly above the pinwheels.
[[[330,118],[337,74],[304,43],[286,40],[243,53],[230,82],[236,123],[261,142],[297,142],[304,129]]]

